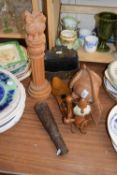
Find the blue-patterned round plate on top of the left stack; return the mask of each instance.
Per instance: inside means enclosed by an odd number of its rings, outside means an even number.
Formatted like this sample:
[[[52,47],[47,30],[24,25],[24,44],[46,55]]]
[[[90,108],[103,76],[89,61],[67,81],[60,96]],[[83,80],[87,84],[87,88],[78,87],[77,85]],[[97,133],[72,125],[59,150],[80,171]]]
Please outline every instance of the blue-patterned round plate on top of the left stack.
[[[7,70],[0,69],[0,120],[14,110],[20,97],[20,82]]]

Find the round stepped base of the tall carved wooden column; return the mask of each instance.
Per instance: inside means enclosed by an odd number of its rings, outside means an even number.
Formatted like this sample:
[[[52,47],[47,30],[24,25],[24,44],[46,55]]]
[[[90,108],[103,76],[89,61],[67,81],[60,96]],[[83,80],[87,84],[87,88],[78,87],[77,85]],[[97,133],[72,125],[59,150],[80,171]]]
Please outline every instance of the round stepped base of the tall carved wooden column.
[[[33,82],[30,83],[28,93],[31,97],[37,98],[39,101],[47,99],[51,93],[51,86],[47,80],[45,83],[37,87]]]

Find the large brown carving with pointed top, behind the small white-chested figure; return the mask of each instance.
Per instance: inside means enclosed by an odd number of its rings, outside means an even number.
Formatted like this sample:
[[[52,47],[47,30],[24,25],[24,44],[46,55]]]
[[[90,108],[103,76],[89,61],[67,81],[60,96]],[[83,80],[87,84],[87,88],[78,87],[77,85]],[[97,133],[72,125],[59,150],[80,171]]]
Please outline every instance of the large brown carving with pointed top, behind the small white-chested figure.
[[[101,84],[102,80],[100,76],[96,74],[96,72],[89,70],[86,65],[76,73],[70,82],[72,97],[74,99],[79,98],[83,90],[88,92],[86,99],[87,102],[91,104],[92,119],[96,124],[99,123],[102,116],[102,108],[99,99]]]

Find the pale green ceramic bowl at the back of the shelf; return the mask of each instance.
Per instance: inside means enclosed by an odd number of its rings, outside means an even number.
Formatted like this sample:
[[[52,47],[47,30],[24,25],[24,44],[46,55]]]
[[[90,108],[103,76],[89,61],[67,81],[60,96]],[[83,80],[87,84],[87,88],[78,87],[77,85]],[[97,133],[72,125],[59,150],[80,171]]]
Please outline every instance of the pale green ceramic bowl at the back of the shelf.
[[[77,30],[79,21],[73,16],[65,16],[61,19],[63,29]]]

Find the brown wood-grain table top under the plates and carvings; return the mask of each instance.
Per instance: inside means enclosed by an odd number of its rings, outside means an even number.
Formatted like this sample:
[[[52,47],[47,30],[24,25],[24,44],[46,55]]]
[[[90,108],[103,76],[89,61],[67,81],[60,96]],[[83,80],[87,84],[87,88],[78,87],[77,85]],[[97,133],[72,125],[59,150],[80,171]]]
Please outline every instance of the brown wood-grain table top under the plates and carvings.
[[[101,76],[105,64],[87,63]],[[29,79],[23,81],[26,89]],[[38,100],[27,95],[22,119],[13,128],[0,134],[0,172],[37,175],[117,175],[117,153],[106,129],[110,109],[116,102],[104,88],[100,91],[103,116],[100,124],[89,127],[87,134],[72,133],[64,125],[55,99],[47,100],[59,130],[69,149],[68,154],[57,157],[56,149],[44,130],[35,111]]]

